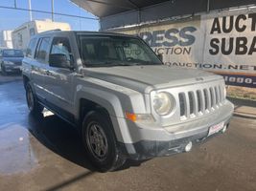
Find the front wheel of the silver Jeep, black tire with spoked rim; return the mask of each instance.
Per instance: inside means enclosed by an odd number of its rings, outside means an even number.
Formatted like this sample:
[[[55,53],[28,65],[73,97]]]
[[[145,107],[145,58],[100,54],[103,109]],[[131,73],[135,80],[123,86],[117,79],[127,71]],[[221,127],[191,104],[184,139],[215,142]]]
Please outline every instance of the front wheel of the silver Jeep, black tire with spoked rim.
[[[116,170],[126,162],[118,147],[111,121],[102,111],[92,111],[84,117],[82,141],[91,163],[101,172]]]

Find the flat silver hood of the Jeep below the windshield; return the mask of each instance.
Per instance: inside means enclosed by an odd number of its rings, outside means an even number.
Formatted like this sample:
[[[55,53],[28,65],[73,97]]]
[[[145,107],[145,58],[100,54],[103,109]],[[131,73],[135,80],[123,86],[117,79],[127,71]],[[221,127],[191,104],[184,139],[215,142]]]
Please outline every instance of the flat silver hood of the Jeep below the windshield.
[[[222,78],[220,75],[197,69],[173,68],[165,65],[85,68],[83,74],[141,93]]]

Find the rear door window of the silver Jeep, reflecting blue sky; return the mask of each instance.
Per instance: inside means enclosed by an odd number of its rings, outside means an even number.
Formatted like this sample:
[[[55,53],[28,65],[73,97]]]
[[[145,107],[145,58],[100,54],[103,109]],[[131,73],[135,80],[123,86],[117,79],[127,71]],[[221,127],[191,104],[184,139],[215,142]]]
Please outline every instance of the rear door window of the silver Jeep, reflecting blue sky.
[[[40,43],[35,53],[35,59],[39,62],[46,63],[49,47],[50,47],[50,37],[40,38]]]

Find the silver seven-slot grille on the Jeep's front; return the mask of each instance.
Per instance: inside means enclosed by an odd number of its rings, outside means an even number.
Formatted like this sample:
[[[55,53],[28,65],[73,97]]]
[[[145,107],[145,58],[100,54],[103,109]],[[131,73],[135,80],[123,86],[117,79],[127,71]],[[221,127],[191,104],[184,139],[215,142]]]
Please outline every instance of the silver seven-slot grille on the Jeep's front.
[[[187,119],[208,114],[221,106],[224,93],[221,85],[178,94],[180,118]]]

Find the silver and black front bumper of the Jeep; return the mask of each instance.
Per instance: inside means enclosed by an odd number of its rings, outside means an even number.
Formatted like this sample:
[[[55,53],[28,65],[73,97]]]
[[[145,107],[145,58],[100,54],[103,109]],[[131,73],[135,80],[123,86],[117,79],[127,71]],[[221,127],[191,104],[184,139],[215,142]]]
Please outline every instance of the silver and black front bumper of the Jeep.
[[[210,127],[221,122],[228,127],[233,111],[233,104],[226,101],[225,105],[210,117],[158,129],[144,128],[127,120],[130,142],[119,141],[120,147],[128,159],[135,160],[182,153],[189,142],[195,144],[219,135],[220,133],[217,133],[208,137]],[[127,138],[127,134],[123,138]]]

